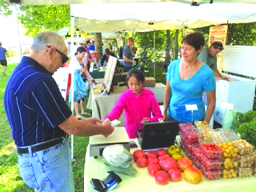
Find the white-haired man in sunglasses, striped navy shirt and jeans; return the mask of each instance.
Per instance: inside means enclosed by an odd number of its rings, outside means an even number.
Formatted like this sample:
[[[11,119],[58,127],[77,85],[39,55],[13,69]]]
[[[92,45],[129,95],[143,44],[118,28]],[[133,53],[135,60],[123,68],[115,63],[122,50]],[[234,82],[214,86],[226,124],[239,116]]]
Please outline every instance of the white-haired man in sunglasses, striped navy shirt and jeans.
[[[68,61],[66,52],[60,35],[37,34],[30,57],[16,66],[4,95],[19,172],[26,185],[38,191],[74,191],[69,134],[107,137],[114,130],[97,118],[75,118],[66,105],[52,78]]]

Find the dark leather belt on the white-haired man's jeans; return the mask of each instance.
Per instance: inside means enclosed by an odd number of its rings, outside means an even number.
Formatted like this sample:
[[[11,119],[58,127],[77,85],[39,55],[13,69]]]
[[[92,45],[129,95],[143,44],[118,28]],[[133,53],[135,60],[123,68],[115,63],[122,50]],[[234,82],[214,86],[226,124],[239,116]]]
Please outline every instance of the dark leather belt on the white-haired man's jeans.
[[[31,146],[31,153],[37,152],[39,150],[45,150],[47,148],[50,148],[51,146],[56,146],[57,144],[61,143],[64,139],[65,138],[57,138],[49,142],[44,142],[41,145],[39,144],[37,146]],[[30,153],[29,148],[30,147],[17,148],[18,154],[29,154]]]

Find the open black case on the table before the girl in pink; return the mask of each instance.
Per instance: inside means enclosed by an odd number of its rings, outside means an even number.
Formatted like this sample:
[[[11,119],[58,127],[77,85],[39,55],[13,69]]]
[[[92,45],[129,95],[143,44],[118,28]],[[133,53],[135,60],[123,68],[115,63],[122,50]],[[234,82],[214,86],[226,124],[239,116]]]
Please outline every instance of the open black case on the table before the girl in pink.
[[[174,145],[179,132],[177,121],[148,122],[143,130],[138,130],[138,141],[142,150],[165,148]]]

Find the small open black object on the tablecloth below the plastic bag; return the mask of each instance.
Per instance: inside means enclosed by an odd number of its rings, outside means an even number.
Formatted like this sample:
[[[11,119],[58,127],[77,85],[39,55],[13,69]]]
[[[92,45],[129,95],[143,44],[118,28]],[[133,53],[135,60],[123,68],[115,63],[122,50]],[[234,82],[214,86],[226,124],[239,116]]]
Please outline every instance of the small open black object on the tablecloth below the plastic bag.
[[[114,188],[118,186],[120,182],[122,182],[122,178],[120,178],[118,174],[114,173],[114,171],[108,171],[107,173],[109,173],[109,175],[103,180],[100,180],[98,178],[92,178],[90,180],[90,184],[94,187],[94,190],[114,190]]]

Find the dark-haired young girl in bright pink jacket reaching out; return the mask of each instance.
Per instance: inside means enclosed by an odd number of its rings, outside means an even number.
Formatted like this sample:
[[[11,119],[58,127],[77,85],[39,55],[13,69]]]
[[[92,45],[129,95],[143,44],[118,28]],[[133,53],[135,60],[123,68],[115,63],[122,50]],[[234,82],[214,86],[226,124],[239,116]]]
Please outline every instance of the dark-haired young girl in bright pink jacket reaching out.
[[[137,130],[142,130],[144,122],[158,122],[162,113],[151,90],[143,88],[145,77],[141,70],[131,69],[127,74],[128,90],[120,96],[114,109],[104,122],[118,119],[125,110],[126,132],[129,138],[138,138]],[[151,113],[153,118],[151,118]],[[103,123],[104,123],[103,122]]]

